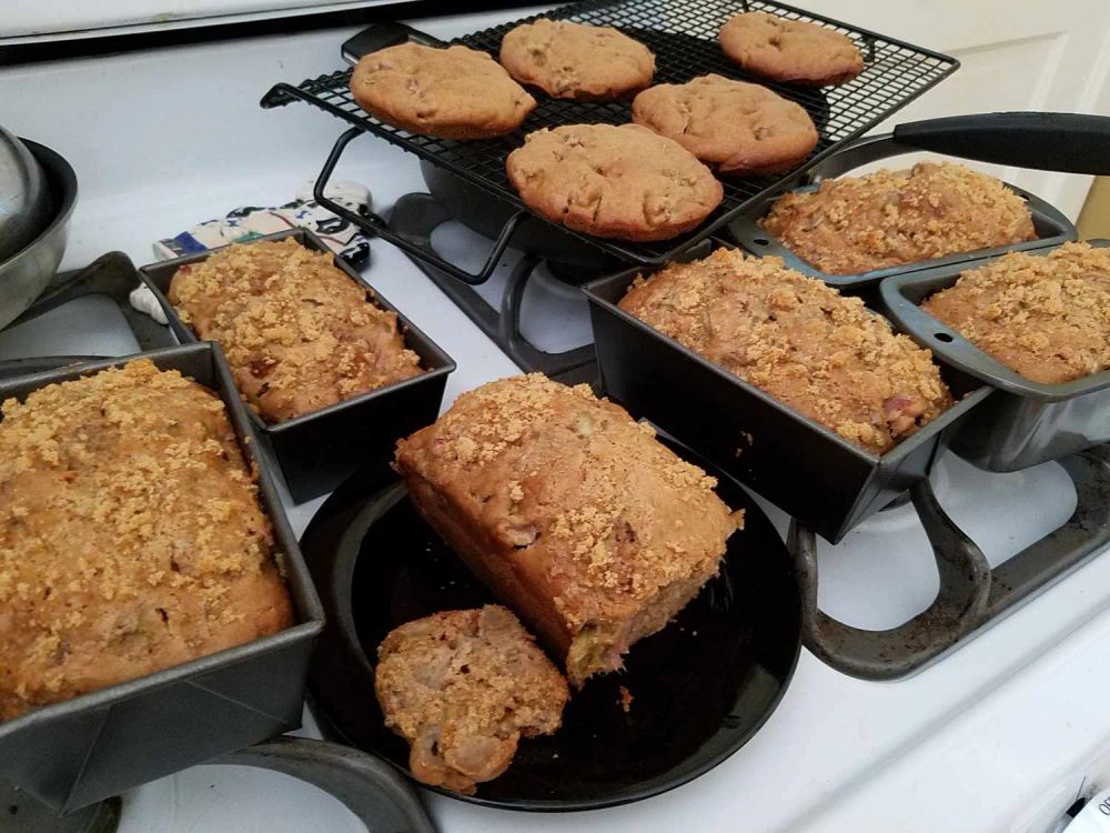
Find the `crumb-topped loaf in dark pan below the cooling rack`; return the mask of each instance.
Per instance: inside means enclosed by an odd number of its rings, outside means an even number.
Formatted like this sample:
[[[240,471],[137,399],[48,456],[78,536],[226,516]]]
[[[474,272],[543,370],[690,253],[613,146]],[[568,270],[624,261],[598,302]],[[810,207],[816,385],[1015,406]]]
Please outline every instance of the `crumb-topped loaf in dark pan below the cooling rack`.
[[[718,249],[637,279],[619,305],[876,454],[952,403],[928,350],[778,258]]]

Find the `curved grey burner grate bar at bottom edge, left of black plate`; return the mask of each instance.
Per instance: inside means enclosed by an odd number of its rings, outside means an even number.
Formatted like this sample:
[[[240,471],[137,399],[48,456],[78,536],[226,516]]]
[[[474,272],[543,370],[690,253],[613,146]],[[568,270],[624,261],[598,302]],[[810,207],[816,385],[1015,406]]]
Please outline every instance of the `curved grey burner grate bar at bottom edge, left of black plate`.
[[[405,780],[384,761],[350,746],[274,737],[211,763],[256,766],[306,781],[343,802],[373,833],[435,833]]]

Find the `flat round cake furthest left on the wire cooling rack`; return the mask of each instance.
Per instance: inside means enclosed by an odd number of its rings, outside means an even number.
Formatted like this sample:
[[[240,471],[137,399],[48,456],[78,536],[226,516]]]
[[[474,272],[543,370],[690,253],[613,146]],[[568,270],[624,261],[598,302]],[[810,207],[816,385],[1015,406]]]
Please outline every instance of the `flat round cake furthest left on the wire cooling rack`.
[[[485,139],[521,127],[536,100],[485,52],[402,43],[362,58],[359,106],[386,124],[442,139]]]

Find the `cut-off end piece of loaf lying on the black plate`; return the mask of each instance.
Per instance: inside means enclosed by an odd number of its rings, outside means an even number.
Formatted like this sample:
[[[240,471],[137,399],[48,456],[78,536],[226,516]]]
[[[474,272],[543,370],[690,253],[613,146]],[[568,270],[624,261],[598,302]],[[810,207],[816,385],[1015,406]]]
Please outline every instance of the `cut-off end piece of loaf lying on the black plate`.
[[[558,729],[568,696],[532,634],[497,604],[391,631],[374,690],[385,725],[408,741],[413,775],[468,795],[508,769],[522,736]]]

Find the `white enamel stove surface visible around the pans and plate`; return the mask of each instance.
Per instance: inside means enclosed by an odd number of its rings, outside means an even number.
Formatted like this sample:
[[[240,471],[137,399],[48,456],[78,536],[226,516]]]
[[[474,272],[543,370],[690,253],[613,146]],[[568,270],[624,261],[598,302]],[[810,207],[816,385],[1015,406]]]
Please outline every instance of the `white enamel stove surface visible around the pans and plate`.
[[[421,21],[438,36],[497,16]],[[163,50],[0,69],[6,127],[63,153],[81,197],[65,265],[119,249],[137,262],[151,242],[242,204],[275,204],[313,178],[341,122],[305,107],[262,111],[279,80],[340,66],[350,32]],[[381,210],[421,190],[415,159],[363,138],[339,171],[371,187]],[[457,230],[441,248],[473,245]],[[404,255],[374,241],[367,280],[456,361],[447,400],[516,372]],[[488,289],[483,289],[483,292]],[[28,352],[127,352],[112,311],[61,310],[36,331],[0,338],[0,358]],[[579,343],[581,314],[563,299],[547,349]],[[544,307],[545,311],[554,309]],[[577,328],[577,329],[576,329]],[[548,341],[545,341],[548,340]],[[1063,521],[1074,495],[1054,464],[989,475],[948,456],[935,475],[941,503],[985,550],[1005,560]],[[292,510],[303,529],[320,501]],[[770,510],[785,529],[785,519]],[[849,624],[889,628],[928,605],[936,568],[908,506],[871,519],[820,552],[821,606]],[[1043,833],[1072,802],[1110,783],[1110,559],[1096,559],[963,649],[894,683],[839,674],[804,651],[778,710],[737,754],[697,781],[633,805],[522,815],[427,795],[448,833],[522,827],[612,830],[1008,831]],[[306,730],[312,733],[311,725]],[[665,739],[660,739],[665,742]],[[125,833],[306,833],[360,830],[315,787],[240,767],[194,767],[125,796]]]

